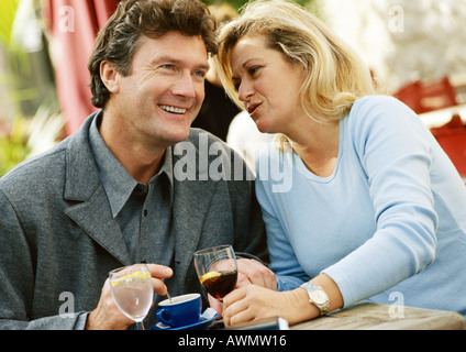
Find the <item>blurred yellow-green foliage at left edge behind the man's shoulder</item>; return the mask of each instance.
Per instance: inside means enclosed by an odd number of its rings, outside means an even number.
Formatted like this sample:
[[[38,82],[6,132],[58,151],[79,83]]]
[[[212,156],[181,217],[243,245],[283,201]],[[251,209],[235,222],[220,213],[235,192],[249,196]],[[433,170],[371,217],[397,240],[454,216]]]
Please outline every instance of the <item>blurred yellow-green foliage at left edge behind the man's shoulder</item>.
[[[52,146],[64,128],[41,6],[0,1],[0,177]]]

